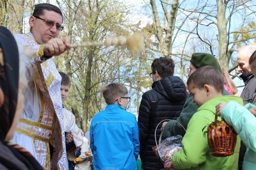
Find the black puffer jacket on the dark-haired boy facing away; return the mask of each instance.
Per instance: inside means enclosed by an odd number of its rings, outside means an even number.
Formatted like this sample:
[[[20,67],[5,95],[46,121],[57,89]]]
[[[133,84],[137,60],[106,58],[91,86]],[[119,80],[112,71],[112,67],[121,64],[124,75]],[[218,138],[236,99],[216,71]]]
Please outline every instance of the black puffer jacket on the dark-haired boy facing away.
[[[168,76],[152,84],[152,89],[143,94],[138,116],[140,130],[140,158],[142,169],[163,169],[161,160],[152,151],[156,146],[155,129],[162,120],[179,117],[188,93],[180,77]],[[157,128],[157,141],[161,134]]]

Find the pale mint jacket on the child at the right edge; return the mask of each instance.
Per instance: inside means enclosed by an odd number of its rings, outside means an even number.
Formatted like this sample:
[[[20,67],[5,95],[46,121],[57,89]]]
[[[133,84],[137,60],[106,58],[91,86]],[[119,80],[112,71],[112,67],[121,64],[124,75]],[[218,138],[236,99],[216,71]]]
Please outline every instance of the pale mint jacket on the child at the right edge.
[[[223,108],[221,116],[232,125],[243,143],[248,147],[244,155],[243,170],[256,168],[256,118],[248,111],[252,104],[243,106],[236,102],[228,102]]]

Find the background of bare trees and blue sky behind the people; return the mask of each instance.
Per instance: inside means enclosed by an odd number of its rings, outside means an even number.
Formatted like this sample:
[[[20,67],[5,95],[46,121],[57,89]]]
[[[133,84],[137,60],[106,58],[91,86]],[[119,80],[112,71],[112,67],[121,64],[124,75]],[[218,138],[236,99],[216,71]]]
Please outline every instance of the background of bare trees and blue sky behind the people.
[[[151,89],[155,58],[172,56],[175,75],[184,82],[193,52],[208,52],[225,65],[239,92],[237,50],[255,42],[256,0],[0,0],[0,25],[12,33],[28,33],[33,6],[52,3],[63,12],[60,37],[71,43],[102,42],[140,33],[145,50],[132,56],[126,47],[77,47],[54,57],[72,79],[65,107],[86,132],[90,120],[106,107],[100,89],[111,82],[129,89],[127,111],[138,114],[141,95]]]

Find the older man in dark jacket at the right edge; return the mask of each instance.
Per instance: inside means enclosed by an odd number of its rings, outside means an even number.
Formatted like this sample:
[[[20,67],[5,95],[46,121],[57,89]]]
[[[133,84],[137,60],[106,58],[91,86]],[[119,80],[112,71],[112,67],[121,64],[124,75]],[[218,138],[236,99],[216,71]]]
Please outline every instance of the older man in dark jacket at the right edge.
[[[251,72],[251,68],[249,65],[250,56],[252,56],[253,52],[256,50],[255,43],[249,43],[241,47],[237,56],[237,71],[242,74],[239,76],[244,81],[244,89],[240,95],[243,98],[244,105],[248,103],[256,104],[256,77],[254,77]],[[244,153],[246,151],[246,146],[241,143],[240,153],[239,153],[239,170],[243,169],[243,159]]]

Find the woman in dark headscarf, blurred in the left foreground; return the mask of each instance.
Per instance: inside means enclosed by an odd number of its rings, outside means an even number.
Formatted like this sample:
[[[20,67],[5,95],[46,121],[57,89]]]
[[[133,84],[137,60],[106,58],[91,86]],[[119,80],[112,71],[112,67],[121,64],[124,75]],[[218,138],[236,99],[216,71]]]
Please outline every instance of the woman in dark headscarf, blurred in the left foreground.
[[[0,169],[43,169],[29,151],[9,142],[24,107],[26,79],[19,61],[12,33],[0,26]]]

